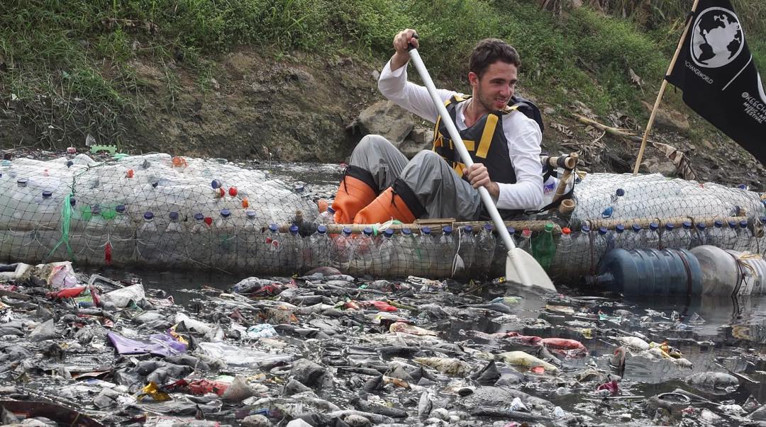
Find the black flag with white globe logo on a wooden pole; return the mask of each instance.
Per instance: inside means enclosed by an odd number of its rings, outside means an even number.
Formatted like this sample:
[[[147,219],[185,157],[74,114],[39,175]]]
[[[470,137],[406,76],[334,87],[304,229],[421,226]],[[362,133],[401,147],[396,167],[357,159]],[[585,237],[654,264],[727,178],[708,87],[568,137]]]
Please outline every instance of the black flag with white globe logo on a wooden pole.
[[[766,94],[729,0],[700,0],[666,80],[683,102],[766,165]]]

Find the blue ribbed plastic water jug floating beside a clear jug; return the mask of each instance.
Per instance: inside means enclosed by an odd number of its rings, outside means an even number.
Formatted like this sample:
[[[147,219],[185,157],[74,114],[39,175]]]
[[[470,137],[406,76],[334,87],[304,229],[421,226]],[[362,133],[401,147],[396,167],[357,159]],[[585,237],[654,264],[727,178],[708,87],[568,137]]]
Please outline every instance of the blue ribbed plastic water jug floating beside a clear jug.
[[[700,295],[702,269],[686,249],[613,249],[585,284],[624,295]]]

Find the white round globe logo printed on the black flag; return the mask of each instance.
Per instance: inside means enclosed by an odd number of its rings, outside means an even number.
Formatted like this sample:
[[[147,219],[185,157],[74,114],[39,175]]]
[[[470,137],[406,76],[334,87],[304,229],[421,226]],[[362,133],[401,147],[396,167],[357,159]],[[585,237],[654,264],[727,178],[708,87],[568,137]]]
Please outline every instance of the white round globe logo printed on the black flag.
[[[745,46],[737,15],[725,8],[708,8],[692,28],[692,60],[699,67],[719,68],[730,64]]]

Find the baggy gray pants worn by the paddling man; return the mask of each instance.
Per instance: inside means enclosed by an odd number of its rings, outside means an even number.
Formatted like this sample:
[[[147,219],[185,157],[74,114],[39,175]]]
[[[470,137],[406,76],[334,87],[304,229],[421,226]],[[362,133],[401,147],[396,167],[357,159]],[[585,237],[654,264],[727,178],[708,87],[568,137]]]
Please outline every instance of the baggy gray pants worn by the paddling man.
[[[367,135],[354,148],[350,164],[369,171],[381,191],[401,178],[425,207],[423,218],[473,221],[482,212],[479,191],[435,152],[424,150],[408,162],[388,139]]]

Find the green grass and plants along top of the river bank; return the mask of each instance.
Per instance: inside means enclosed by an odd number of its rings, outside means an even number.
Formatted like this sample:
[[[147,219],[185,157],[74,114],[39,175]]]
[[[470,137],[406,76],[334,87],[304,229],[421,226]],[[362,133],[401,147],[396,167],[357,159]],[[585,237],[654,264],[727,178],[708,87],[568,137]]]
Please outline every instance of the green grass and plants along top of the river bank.
[[[442,79],[462,79],[473,44],[500,37],[522,54],[522,87],[546,102],[578,99],[601,113],[644,114],[637,99],[656,93],[691,2],[585,3],[560,12],[532,0],[5,0],[0,93],[21,105],[51,146],[89,132],[119,142],[126,117],[140,120],[147,103],[172,110],[178,65],[206,90],[216,57],[241,44],[382,64],[391,37],[409,27],[420,32],[424,58]],[[766,7],[734,3],[756,63],[766,67],[766,41],[753,36],[764,34]],[[160,65],[164,99],[148,99],[136,58]]]

